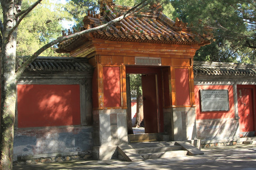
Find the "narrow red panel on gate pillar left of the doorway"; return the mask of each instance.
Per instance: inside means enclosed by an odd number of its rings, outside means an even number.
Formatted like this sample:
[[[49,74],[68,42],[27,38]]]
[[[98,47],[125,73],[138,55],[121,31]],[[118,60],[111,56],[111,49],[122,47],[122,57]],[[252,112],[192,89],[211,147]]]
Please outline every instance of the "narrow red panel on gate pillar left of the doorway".
[[[104,107],[120,107],[120,68],[103,67]]]

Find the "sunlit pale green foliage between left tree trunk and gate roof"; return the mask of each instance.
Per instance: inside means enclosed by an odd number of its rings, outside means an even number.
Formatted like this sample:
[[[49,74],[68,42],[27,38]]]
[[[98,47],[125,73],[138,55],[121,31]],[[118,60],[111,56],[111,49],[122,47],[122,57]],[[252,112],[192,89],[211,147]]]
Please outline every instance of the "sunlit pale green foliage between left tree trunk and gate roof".
[[[22,9],[28,8],[36,0],[23,0]],[[52,4],[49,0],[43,0],[18,27],[17,56],[29,56],[57,37],[61,36],[63,27],[61,20],[69,14],[64,12],[61,4]],[[58,56],[55,47],[44,51],[41,56]]]

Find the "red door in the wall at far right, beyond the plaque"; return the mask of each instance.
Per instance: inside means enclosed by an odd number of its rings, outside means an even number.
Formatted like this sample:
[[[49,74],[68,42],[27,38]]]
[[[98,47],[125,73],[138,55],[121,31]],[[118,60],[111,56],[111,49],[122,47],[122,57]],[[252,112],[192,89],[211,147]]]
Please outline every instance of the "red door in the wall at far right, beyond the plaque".
[[[238,116],[240,132],[254,131],[252,89],[238,88]]]

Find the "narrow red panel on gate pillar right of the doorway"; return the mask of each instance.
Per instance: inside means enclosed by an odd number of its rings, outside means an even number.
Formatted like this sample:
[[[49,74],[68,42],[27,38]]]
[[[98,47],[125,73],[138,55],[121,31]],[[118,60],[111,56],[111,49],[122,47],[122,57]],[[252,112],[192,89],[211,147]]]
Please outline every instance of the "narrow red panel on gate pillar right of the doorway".
[[[189,73],[186,68],[175,68],[176,105],[190,105]]]

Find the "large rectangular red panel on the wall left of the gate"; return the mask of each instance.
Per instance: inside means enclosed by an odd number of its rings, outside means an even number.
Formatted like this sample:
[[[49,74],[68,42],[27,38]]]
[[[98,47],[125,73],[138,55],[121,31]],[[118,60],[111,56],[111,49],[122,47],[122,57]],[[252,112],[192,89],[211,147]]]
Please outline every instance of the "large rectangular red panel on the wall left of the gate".
[[[79,85],[18,85],[18,127],[80,125]]]

